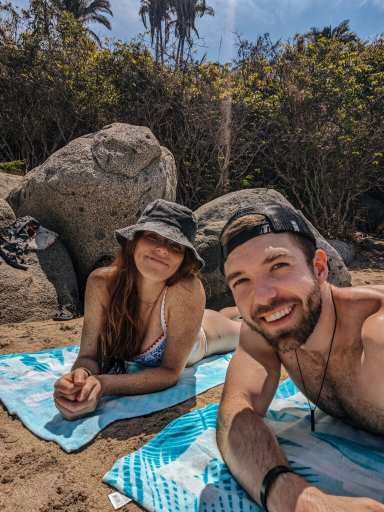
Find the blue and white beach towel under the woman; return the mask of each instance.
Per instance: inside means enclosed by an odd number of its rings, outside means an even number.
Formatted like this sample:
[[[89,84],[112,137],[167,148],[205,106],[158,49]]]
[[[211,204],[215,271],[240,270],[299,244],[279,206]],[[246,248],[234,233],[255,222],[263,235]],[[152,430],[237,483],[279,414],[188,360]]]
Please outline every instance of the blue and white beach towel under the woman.
[[[222,384],[232,354],[213,355],[186,368],[176,386],[159,393],[101,398],[86,418],[67,421],[52,399],[54,382],[71,370],[79,346],[0,356],[0,399],[34,434],[72,452],[115,420],[160,411]],[[132,364],[130,371],[143,369]]]

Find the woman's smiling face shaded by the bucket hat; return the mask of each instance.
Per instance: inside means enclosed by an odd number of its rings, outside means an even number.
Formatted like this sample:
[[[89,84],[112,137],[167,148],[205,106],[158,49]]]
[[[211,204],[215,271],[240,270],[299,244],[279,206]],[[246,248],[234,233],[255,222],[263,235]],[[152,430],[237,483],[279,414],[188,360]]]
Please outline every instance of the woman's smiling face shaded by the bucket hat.
[[[138,271],[147,279],[166,281],[180,268],[185,246],[144,231],[136,243],[134,260]]]

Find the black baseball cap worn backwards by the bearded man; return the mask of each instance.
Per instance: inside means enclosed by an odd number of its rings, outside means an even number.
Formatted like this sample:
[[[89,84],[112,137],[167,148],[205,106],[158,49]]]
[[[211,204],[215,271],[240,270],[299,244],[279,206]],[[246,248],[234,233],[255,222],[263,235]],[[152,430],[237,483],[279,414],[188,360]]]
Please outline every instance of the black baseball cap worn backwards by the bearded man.
[[[222,236],[228,226],[237,219],[252,214],[264,215],[267,222],[260,224],[251,230],[241,231],[231,238],[228,243],[221,245]],[[221,272],[224,273],[224,263],[228,258],[228,254],[239,245],[244,244],[251,238],[258,237],[261,234],[271,232],[285,233],[287,231],[302,234],[303,236],[310,238],[316,246],[314,234],[309,229],[304,218],[301,217],[293,207],[281,203],[267,202],[240,208],[229,218],[219,236],[218,262]]]

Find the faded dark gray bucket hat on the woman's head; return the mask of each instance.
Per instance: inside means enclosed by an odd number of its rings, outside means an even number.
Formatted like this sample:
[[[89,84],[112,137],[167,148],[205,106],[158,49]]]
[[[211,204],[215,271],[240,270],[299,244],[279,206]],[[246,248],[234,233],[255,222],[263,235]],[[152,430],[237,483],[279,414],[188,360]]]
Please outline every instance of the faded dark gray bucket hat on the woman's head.
[[[137,231],[153,231],[160,237],[189,247],[195,254],[199,268],[203,268],[204,260],[200,258],[194,247],[197,231],[196,218],[186,206],[157,199],[148,204],[137,224],[117,229],[115,237],[120,245],[124,245],[125,240],[133,240]]]

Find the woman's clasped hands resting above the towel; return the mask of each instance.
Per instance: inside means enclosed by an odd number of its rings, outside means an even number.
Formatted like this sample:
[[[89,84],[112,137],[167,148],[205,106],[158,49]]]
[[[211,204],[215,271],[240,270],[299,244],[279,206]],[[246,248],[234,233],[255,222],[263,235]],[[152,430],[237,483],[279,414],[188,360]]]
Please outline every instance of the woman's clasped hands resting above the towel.
[[[93,412],[103,396],[100,377],[88,375],[83,368],[76,368],[60,377],[54,384],[56,409],[68,420]]]

